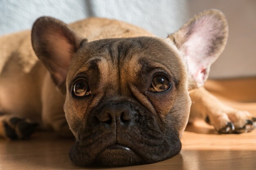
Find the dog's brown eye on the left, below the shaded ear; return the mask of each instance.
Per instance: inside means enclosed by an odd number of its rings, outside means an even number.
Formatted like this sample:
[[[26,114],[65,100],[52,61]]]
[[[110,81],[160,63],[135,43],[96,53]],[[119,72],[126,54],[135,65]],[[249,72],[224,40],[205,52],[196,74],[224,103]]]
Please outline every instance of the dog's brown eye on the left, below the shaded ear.
[[[85,79],[76,80],[74,83],[73,92],[76,96],[87,96],[91,94],[88,83],[85,81]]]

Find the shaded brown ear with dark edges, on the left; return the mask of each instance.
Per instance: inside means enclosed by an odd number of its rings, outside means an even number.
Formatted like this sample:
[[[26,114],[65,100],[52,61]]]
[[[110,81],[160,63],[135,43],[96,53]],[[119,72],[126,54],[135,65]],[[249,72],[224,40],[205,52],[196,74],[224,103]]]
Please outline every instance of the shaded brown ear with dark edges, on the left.
[[[64,22],[41,17],[33,25],[31,41],[37,57],[48,69],[55,84],[61,88],[65,85],[68,67],[79,49],[81,38]]]

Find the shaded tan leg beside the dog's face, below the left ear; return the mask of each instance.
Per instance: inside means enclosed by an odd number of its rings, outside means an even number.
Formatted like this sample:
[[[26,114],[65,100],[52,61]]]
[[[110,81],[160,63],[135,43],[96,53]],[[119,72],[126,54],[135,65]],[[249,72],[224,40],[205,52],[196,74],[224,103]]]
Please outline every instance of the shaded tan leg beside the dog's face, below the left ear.
[[[61,137],[74,137],[65,117],[63,105],[65,95],[57,90],[50,75],[45,77],[42,91],[42,120],[46,128],[51,128]]]

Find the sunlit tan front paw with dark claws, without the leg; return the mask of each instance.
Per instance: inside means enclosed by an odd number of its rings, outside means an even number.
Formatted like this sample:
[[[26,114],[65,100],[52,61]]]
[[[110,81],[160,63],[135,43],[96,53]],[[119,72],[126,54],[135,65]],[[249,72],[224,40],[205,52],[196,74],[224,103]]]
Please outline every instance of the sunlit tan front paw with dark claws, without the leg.
[[[250,132],[256,127],[256,118],[251,113],[235,109],[213,114],[206,121],[224,134]]]

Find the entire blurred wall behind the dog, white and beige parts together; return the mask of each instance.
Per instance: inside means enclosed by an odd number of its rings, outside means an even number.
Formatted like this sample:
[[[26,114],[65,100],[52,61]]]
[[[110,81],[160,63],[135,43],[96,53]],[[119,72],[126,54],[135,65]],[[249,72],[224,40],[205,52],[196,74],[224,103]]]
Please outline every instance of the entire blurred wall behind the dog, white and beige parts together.
[[[256,0],[0,0],[0,35],[30,29],[49,15],[64,22],[89,16],[123,20],[165,38],[195,13],[216,8],[229,22],[225,51],[211,78],[256,75]]]

